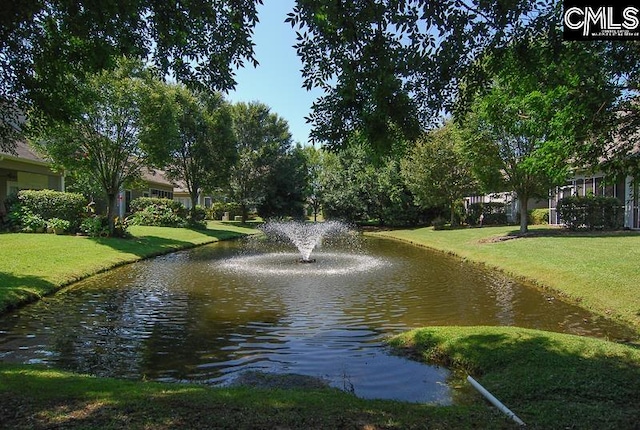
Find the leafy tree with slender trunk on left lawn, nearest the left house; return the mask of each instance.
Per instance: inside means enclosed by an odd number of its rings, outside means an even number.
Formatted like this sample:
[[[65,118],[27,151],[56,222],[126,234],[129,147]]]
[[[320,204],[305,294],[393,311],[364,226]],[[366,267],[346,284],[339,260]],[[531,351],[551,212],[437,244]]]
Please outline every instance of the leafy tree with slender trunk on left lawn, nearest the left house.
[[[80,115],[72,122],[47,122],[38,138],[56,164],[99,185],[107,199],[111,234],[118,193],[140,178],[164,144],[145,134],[145,111],[156,107],[150,97],[153,79],[140,63],[121,60],[117,69],[93,75],[79,86],[73,103]]]

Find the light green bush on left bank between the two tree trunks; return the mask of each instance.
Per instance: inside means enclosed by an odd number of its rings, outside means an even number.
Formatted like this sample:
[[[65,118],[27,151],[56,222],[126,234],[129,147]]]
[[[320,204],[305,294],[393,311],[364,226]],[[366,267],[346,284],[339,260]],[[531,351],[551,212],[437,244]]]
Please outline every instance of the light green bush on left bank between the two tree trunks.
[[[182,203],[170,199],[139,197],[131,201],[131,211],[127,218],[131,225],[185,227],[188,223]]]

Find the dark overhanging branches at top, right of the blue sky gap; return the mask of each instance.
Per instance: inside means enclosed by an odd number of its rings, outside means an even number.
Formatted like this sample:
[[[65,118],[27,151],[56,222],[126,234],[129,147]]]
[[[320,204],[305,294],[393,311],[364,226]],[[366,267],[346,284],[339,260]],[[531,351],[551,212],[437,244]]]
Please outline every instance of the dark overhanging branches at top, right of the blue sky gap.
[[[378,152],[418,136],[451,107],[478,54],[560,21],[555,0],[298,0],[287,21],[297,30],[304,84],[325,95],[312,106],[312,138],[331,147],[364,136]]]

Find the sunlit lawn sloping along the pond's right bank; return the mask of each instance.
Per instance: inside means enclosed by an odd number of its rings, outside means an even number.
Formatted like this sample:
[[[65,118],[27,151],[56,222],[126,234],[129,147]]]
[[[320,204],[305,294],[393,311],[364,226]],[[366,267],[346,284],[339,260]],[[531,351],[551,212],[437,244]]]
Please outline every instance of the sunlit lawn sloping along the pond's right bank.
[[[532,280],[640,333],[640,233],[566,233],[533,227],[530,236],[496,240],[512,233],[514,227],[372,234],[452,253]]]

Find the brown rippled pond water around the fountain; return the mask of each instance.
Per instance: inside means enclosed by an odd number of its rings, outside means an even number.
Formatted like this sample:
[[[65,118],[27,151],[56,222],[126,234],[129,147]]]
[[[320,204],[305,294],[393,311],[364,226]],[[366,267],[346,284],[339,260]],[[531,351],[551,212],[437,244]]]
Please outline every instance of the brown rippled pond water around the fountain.
[[[0,319],[0,360],[215,385],[247,371],[320,378],[364,398],[449,404],[449,371],[384,340],[437,325],[515,325],[621,339],[628,329],[441,253],[384,239],[358,251],[223,242],[94,276]]]

